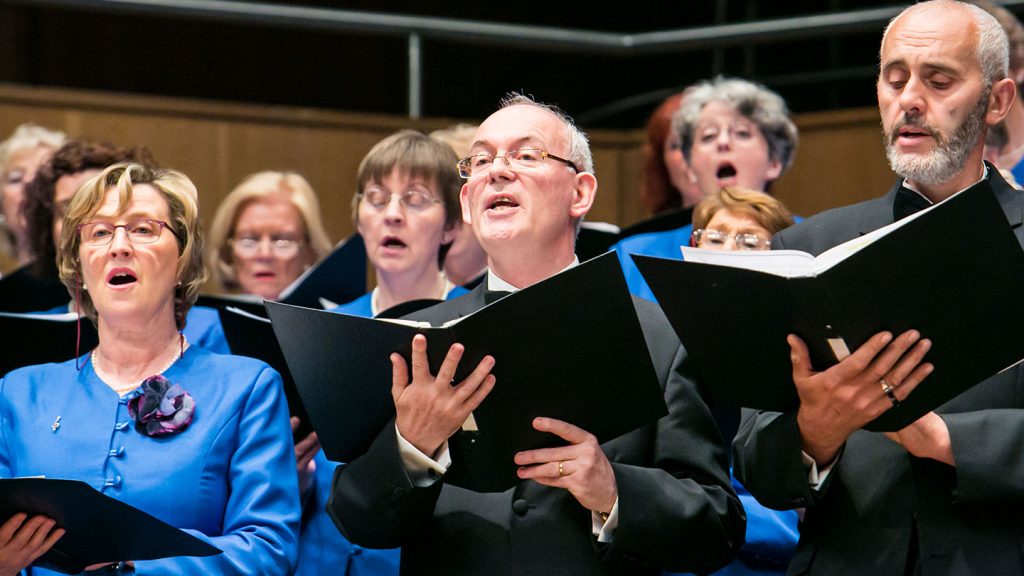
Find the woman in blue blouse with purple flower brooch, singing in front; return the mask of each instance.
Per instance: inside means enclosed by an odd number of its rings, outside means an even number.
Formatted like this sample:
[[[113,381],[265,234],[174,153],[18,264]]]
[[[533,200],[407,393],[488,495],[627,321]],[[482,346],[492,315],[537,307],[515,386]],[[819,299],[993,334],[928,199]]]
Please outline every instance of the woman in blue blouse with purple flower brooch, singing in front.
[[[92,177],[68,206],[57,263],[99,344],[0,380],[0,477],[81,480],[223,550],[121,559],[93,567],[100,573],[294,567],[298,478],[281,376],[181,333],[206,280],[202,249],[197,192],[184,174],[117,164]],[[0,521],[0,574],[25,568],[57,534],[39,517]],[[50,539],[27,539],[29,530]]]

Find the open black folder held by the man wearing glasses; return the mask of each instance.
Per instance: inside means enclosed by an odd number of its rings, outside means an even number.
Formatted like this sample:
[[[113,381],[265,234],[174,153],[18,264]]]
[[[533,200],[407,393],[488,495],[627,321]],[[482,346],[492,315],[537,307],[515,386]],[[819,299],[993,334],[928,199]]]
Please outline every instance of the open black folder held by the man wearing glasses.
[[[473,413],[498,479],[514,486],[513,456],[558,445],[536,416],[573,423],[605,442],[667,414],[643,332],[613,253],[506,296],[443,327],[425,327],[267,302],[267,312],[324,453],[347,462],[394,416],[391,362],[427,336],[431,373],[455,342],[456,381],[486,355],[497,383]],[[460,466],[453,456],[453,469]],[[449,479],[452,481],[452,479]]]

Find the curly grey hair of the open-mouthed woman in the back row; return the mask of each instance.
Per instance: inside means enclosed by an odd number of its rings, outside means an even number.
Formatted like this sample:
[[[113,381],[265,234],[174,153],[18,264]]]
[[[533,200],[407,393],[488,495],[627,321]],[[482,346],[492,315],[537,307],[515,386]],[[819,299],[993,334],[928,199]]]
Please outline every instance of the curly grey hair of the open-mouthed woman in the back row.
[[[700,111],[716,101],[732,107],[757,124],[768,142],[768,157],[781,164],[783,171],[793,164],[799,136],[782,96],[761,84],[721,76],[694,84],[685,92],[679,111],[672,117],[672,129],[679,133],[687,162]]]

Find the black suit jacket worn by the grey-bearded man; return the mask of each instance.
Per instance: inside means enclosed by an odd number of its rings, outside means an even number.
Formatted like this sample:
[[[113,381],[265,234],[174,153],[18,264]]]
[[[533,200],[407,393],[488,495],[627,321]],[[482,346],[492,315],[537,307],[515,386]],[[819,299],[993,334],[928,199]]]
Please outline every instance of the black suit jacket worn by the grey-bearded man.
[[[991,167],[989,174],[1024,246],[1024,193]],[[783,231],[773,247],[817,254],[891,223],[897,188]],[[970,242],[970,231],[949,233],[949,241]],[[733,444],[735,472],[767,506],[807,506],[790,574],[902,575],[919,552],[921,573],[929,576],[1024,574],[1022,409],[1018,367],[937,410],[949,427],[955,467],[858,430],[819,491],[808,487],[796,413],[744,412]]]

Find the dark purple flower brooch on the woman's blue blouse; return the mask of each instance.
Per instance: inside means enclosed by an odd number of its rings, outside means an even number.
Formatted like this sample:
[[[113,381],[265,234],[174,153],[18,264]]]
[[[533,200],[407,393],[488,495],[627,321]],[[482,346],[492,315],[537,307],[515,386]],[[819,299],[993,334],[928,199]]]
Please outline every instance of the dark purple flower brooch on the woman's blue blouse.
[[[196,401],[180,385],[158,374],[143,380],[140,387],[142,392],[128,401],[135,429],[145,436],[167,436],[188,427]]]

